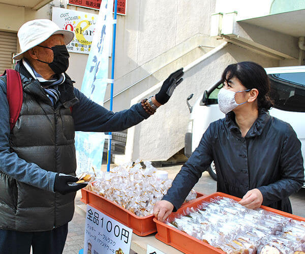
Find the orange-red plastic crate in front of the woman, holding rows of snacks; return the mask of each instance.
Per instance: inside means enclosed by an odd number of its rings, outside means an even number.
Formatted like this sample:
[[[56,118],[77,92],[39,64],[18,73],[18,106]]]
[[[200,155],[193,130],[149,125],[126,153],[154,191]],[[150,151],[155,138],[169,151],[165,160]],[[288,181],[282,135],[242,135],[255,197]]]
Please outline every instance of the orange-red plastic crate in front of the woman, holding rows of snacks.
[[[182,214],[187,208],[189,207],[196,207],[199,204],[201,204],[203,201],[207,201],[209,202],[211,199],[217,197],[217,196],[221,196],[221,197],[226,197],[226,198],[231,198],[235,201],[239,201],[240,198],[236,198],[224,193],[214,193],[211,194],[209,196],[205,196],[205,197],[201,197],[196,199],[194,202],[190,203],[190,204],[186,204],[185,206],[182,206],[180,209],[177,210],[177,212],[173,212],[171,213],[171,215],[169,216],[169,220],[172,221],[177,214]],[[296,215],[293,215],[291,213],[287,213],[287,212],[282,212],[270,207],[266,207],[266,206],[261,206],[261,208],[270,211],[270,212],[274,212],[280,215],[283,215],[285,217],[289,217],[289,218],[293,218],[296,220],[301,220],[301,221],[305,221],[305,218],[303,217],[299,217]],[[156,234],[156,238],[168,245],[171,245],[173,247],[175,247],[176,249],[186,253],[186,254],[195,254],[195,253],[204,253],[204,254],[215,254],[215,253],[225,253],[224,251],[215,248],[207,243],[204,243],[203,241],[198,240],[197,238],[190,236],[180,230],[177,230],[169,225],[166,225],[162,222],[160,222],[159,220],[157,220],[156,218],[154,218],[154,221],[157,225],[157,231],[158,233]]]

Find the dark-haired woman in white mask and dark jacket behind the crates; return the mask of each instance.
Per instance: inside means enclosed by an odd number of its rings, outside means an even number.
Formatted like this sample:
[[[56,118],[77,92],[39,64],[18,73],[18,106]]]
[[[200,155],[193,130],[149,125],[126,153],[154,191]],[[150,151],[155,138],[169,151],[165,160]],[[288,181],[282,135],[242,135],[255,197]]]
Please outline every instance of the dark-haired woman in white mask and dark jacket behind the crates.
[[[218,192],[242,198],[239,203],[250,209],[263,204],[292,212],[288,197],[304,178],[301,144],[289,123],[269,115],[265,70],[255,62],[234,63],[222,81],[218,103],[226,117],[210,123],[172,187],[156,203],[154,214],[161,221],[180,207],[212,161]]]

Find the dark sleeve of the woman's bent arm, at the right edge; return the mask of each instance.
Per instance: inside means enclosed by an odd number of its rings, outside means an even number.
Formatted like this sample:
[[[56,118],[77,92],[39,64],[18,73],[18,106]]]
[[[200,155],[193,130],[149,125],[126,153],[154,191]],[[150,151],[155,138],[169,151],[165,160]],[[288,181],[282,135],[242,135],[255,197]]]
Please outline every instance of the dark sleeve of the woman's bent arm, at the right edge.
[[[303,185],[304,168],[301,143],[294,130],[287,124],[285,139],[280,156],[281,179],[258,187],[263,195],[263,205],[269,205],[288,198]]]

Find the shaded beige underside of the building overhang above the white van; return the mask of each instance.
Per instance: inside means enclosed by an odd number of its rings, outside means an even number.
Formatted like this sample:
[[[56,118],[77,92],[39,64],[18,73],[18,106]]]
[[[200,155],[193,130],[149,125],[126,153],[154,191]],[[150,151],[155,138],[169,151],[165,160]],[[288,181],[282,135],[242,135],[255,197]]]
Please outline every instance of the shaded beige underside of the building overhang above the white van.
[[[278,31],[293,37],[305,36],[305,9],[273,14],[258,18],[239,20],[239,23],[248,23],[259,27]]]

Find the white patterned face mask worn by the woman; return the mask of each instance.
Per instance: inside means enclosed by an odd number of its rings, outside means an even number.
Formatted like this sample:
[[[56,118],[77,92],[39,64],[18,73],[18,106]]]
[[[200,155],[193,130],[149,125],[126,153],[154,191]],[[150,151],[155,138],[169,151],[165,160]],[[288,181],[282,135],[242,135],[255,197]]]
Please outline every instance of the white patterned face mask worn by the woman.
[[[251,89],[243,90],[243,91],[237,91],[237,92],[248,92]],[[233,109],[235,109],[238,105],[245,104],[247,102],[243,102],[240,104],[237,104],[235,101],[235,93],[234,91],[221,88],[218,93],[218,106],[221,112],[227,114]]]

